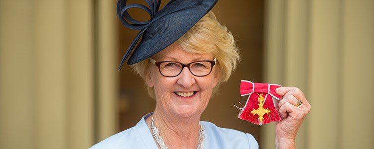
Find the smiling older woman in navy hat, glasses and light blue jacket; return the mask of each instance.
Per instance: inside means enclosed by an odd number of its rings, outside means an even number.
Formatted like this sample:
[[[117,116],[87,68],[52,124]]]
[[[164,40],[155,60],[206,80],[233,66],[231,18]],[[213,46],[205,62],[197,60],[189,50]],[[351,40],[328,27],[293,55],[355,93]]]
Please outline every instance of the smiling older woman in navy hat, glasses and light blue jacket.
[[[91,149],[258,149],[250,134],[200,121],[218,84],[230,77],[239,61],[233,36],[209,11],[216,0],[171,0],[160,11],[159,1],[145,1],[149,8],[118,1],[122,23],[140,30],[121,64],[143,36],[128,64],[145,80],[156,108],[136,126]],[[151,20],[131,18],[127,9],[134,7],[146,10]],[[276,93],[283,96],[276,147],[292,149],[310,105],[296,87],[280,87]],[[299,100],[303,106],[296,107]]]

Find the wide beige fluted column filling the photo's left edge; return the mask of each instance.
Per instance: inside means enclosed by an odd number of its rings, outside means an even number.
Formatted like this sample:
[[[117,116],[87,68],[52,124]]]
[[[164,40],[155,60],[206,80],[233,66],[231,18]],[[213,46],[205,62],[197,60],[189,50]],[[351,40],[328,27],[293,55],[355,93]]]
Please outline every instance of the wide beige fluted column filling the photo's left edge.
[[[0,148],[86,149],[93,136],[91,0],[0,1]]]

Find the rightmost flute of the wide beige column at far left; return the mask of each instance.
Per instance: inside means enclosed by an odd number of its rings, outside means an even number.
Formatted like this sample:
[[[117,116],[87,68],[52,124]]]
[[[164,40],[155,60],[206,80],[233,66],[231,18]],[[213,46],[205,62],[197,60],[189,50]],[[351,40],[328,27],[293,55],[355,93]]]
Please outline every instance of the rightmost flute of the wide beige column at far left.
[[[93,144],[93,4],[92,0],[67,0],[67,131],[68,149]]]

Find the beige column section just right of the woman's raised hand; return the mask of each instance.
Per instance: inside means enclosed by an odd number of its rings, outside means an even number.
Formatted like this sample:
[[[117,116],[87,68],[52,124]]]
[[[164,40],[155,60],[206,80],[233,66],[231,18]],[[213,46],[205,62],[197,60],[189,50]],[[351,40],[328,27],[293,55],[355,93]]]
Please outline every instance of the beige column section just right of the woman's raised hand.
[[[310,149],[339,147],[342,1],[313,0],[310,5],[308,99],[313,107]]]

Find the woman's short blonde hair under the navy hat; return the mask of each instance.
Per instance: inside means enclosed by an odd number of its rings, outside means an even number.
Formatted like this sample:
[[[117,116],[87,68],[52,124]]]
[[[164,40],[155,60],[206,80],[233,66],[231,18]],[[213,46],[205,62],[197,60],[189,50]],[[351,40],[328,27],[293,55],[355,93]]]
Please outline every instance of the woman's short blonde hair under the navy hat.
[[[228,80],[240,60],[239,51],[232,34],[217,21],[212,11],[203,16],[175,43],[186,52],[211,53],[217,58],[216,73],[220,73],[218,84]],[[132,67],[136,74],[146,79],[149,77],[148,69],[150,65],[149,59],[146,59],[132,65]],[[216,85],[213,88],[213,93],[218,89],[218,86]],[[151,97],[155,98],[153,88],[147,87],[147,91]]]

